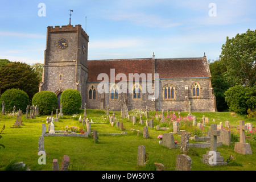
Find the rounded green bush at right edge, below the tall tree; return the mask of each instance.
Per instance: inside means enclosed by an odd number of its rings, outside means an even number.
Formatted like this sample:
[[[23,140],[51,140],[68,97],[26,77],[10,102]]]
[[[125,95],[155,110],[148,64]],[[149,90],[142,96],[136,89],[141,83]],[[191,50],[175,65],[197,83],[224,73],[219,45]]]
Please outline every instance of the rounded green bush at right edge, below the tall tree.
[[[255,109],[256,86],[251,88],[241,85],[233,86],[225,92],[225,96],[230,111],[247,114],[248,109]]]

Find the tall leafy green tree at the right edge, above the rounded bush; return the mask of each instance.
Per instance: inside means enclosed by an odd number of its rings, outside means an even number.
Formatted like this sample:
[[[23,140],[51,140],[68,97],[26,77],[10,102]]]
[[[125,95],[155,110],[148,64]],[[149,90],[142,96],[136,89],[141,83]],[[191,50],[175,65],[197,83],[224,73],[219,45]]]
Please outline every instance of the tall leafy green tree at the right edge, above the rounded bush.
[[[232,84],[254,86],[256,80],[256,30],[247,30],[235,38],[226,38],[222,45],[221,60],[226,65],[225,79]]]

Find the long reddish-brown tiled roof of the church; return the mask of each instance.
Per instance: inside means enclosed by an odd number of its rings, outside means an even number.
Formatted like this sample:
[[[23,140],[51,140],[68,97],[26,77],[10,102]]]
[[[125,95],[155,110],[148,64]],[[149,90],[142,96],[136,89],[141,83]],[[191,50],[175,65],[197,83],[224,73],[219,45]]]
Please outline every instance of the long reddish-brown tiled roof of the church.
[[[114,60],[88,60],[88,82],[101,82],[97,80],[100,73],[106,73],[110,81],[110,69],[115,69],[115,76],[123,73],[129,78],[129,73],[152,73],[153,59],[114,59]],[[155,72],[159,78],[194,78],[210,77],[209,66],[205,57],[155,59]],[[131,78],[129,79],[131,80]],[[121,81],[119,79],[115,81]],[[123,80],[126,81],[126,80]]]

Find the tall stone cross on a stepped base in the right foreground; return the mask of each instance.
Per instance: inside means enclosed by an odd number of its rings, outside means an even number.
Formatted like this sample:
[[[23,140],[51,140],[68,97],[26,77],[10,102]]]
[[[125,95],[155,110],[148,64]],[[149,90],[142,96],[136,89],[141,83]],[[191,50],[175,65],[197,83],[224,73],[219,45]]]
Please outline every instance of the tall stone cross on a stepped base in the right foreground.
[[[217,136],[220,136],[220,131],[217,130],[217,125],[210,125],[210,151],[207,151],[206,155],[203,155],[201,161],[209,166],[225,166],[224,158],[220,156],[220,152],[217,152]]]

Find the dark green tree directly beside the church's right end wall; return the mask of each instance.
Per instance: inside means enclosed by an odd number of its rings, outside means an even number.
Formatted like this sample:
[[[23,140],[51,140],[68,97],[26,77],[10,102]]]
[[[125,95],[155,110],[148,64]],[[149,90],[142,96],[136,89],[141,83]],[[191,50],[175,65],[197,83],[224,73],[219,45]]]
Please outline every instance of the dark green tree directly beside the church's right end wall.
[[[216,106],[218,111],[228,109],[225,101],[225,92],[229,89],[230,84],[225,80],[226,66],[221,60],[216,60],[209,63],[210,73],[212,75],[212,87],[214,89],[214,96],[216,96]]]

